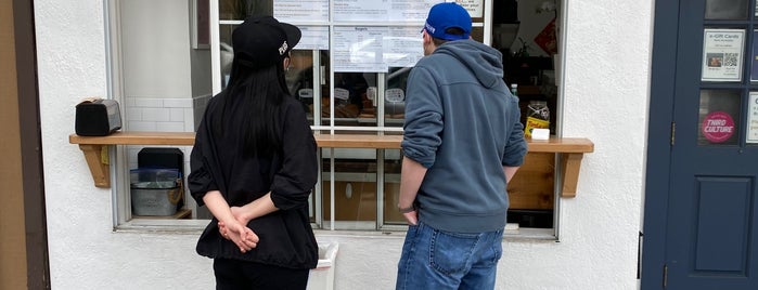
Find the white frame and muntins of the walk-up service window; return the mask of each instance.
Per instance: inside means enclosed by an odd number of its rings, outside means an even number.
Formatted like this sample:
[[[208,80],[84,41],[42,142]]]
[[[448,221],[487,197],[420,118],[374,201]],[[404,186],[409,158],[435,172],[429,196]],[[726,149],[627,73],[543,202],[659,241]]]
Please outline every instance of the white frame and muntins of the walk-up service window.
[[[566,11],[567,11],[567,0],[558,0],[561,3],[558,4],[561,9],[561,15],[558,17],[560,19],[560,26],[561,27],[566,27]],[[106,18],[106,71],[108,74],[107,76],[107,82],[108,82],[108,95],[111,98],[115,98],[118,101],[125,101],[124,100],[124,88],[123,88],[123,78],[121,78],[121,70],[120,68],[123,67],[121,60],[123,55],[120,54],[120,50],[117,48],[120,47],[120,35],[117,30],[115,30],[115,27],[118,27],[118,23],[120,19],[119,14],[118,14],[118,2],[119,0],[104,0],[104,5],[107,13],[105,13]],[[492,0],[483,0],[484,2],[484,16],[480,18],[479,22],[474,24],[474,27],[481,27],[484,29],[484,42],[485,43],[491,43],[492,39]],[[115,3],[115,4],[114,4]],[[332,1],[330,1],[330,8],[333,4]],[[218,8],[218,1],[210,1],[210,60],[211,60],[211,95],[215,95],[220,91],[220,83],[221,83],[221,77],[220,77],[220,52],[219,52],[219,25],[221,25],[222,21],[219,19],[219,8]],[[301,23],[293,23],[294,25],[314,25],[313,23],[308,23],[308,24],[301,24]],[[330,15],[330,21],[326,24],[318,24],[318,26],[327,26],[330,30],[330,36],[334,29],[334,27],[341,27],[341,26],[383,26],[383,27],[408,27],[408,26],[419,26],[421,27],[423,23],[417,23],[417,22],[409,22],[409,23],[382,23],[382,22],[350,22],[350,23],[342,23],[337,22],[335,23],[332,19],[332,15]],[[560,81],[563,79],[563,67],[564,67],[564,62],[565,57],[562,57],[565,55],[565,28],[561,29],[557,34],[557,39],[560,43],[558,48],[558,62],[556,62],[556,69],[555,69],[555,77],[557,79],[556,83],[556,89],[557,89],[557,105],[556,105],[556,110],[555,114],[556,116],[556,136],[561,136],[562,132],[562,121],[561,121],[561,116],[562,116],[562,108],[563,108],[563,95],[564,95],[564,90],[565,85],[563,85]],[[330,37],[330,47],[334,47],[333,43],[333,38]],[[313,53],[313,62],[314,64],[317,62],[320,62],[320,53],[318,50],[311,51]],[[329,50],[329,55],[330,60],[333,60],[333,51]],[[314,66],[316,67],[316,66]],[[313,69],[313,79],[319,78],[320,71],[319,69]],[[331,98],[334,100],[334,67],[330,66],[329,71],[326,72],[329,78],[332,80],[329,82],[329,90],[330,90],[330,95]],[[322,131],[322,132],[329,132],[330,134],[335,134],[335,131],[375,131],[377,134],[383,134],[383,133],[396,133],[396,132],[402,132],[402,128],[397,128],[397,127],[384,127],[384,116],[383,114],[383,104],[384,102],[384,89],[385,89],[385,79],[387,72],[375,72],[377,75],[377,80],[376,80],[376,87],[377,87],[377,122],[376,127],[343,127],[343,126],[336,126],[334,121],[331,121],[330,124],[320,124],[320,123],[314,123],[311,128],[313,131]],[[314,87],[320,85],[317,84],[316,82],[313,83]],[[314,98],[317,96],[314,95]],[[318,97],[320,98],[320,92]],[[334,110],[334,102],[330,102],[330,108],[333,113]],[[316,106],[314,106],[316,107]],[[320,111],[318,111],[319,108],[314,108],[314,116],[320,116]],[[316,115],[316,114],[319,115]],[[333,114],[330,114],[330,116],[334,116]],[[319,118],[316,118],[319,119]],[[129,170],[124,167],[124,164],[128,164],[128,151],[129,149],[127,148],[128,145],[117,145],[117,146],[111,146],[110,148],[110,154],[111,154],[111,168],[112,172],[115,172],[115,174],[112,174],[111,176],[111,184],[114,185],[112,188],[112,198],[113,198],[113,225],[114,228],[117,230],[141,230],[141,229],[147,229],[147,230],[169,230],[169,232],[196,232],[196,230],[202,230],[202,228],[205,227],[207,224],[208,220],[205,219],[192,219],[192,220],[162,220],[162,219],[132,219],[131,215],[131,205],[130,205],[130,198],[129,198],[129,186],[128,186],[128,172]],[[191,146],[189,147],[191,148]],[[326,148],[324,148],[326,150]],[[334,151],[334,149],[331,149]],[[185,154],[185,157],[189,156],[189,149],[185,149],[188,154]],[[383,230],[403,230],[407,226],[403,225],[387,225],[384,224],[384,181],[385,181],[385,174],[380,172],[384,172],[384,159],[385,159],[385,149],[375,149],[376,151],[376,162],[377,162],[377,173],[376,173],[376,198],[377,198],[377,209],[376,209],[376,227],[374,229],[367,229],[365,232],[383,232]],[[322,158],[322,149],[319,150],[319,159],[323,160]],[[331,155],[331,164],[332,167],[334,166],[334,154]],[[555,166],[560,167],[561,155],[556,154],[555,157]],[[187,171],[187,170],[185,170]],[[187,171],[189,173],[189,171]],[[322,176],[322,172],[329,172],[330,173],[330,181],[332,182],[331,190],[330,193],[323,193],[323,184],[322,182],[324,181],[324,176]],[[557,169],[556,169],[556,172]],[[323,213],[321,212],[322,207],[319,205],[323,201],[323,197],[321,195],[330,194],[332,202],[334,201],[334,169],[330,170],[324,170],[321,168],[321,162],[319,163],[319,183],[316,185],[316,193],[312,195],[313,197],[313,202],[317,205],[316,206],[316,222],[313,223],[313,226],[317,228],[322,228],[322,229],[327,229],[327,230],[334,230],[334,207],[331,207],[332,211],[332,219],[330,221],[324,221],[323,220]],[[553,208],[553,227],[552,228],[521,228],[521,232],[524,232],[524,234],[518,233],[509,233],[506,230],[505,236],[511,236],[511,237],[526,237],[530,239],[557,239],[558,234],[560,234],[560,219],[558,219],[558,212],[560,212],[560,200],[561,197],[558,196],[558,185],[560,183],[560,174],[555,174],[555,182],[554,182],[554,194],[555,194],[555,201],[554,201],[554,208]],[[321,194],[318,194],[321,193]],[[185,194],[185,200],[189,202],[185,202],[187,207],[194,207],[194,201],[191,200],[189,194]],[[196,208],[196,207],[195,207]],[[193,212],[194,215],[194,212]],[[330,224],[329,226],[326,224]],[[532,230],[534,229],[534,230]],[[548,233],[549,232],[549,233]]]

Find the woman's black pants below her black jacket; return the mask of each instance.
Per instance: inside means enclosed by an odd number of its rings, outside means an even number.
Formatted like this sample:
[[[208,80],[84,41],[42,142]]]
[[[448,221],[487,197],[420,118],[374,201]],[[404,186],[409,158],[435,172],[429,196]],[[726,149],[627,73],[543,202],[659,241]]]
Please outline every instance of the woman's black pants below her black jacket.
[[[217,290],[304,290],[309,269],[293,269],[230,259],[215,259]]]

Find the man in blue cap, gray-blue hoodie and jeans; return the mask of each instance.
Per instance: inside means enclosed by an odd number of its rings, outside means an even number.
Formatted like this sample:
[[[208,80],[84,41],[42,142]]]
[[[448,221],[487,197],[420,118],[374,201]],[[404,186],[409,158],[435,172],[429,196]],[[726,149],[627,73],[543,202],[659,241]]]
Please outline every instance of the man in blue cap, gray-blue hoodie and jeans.
[[[397,289],[493,289],[505,190],[527,151],[502,55],[470,39],[455,3],[429,11],[408,79],[398,208],[409,223]]]

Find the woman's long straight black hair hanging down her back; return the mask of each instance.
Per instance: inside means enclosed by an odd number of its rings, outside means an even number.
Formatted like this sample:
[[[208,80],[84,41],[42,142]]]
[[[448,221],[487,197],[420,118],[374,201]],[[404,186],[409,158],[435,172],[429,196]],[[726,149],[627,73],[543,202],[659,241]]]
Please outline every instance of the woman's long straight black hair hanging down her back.
[[[284,79],[283,60],[273,65],[259,67],[235,55],[229,85],[224,89],[222,111],[230,103],[240,104],[242,114],[242,132],[244,157],[270,156],[280,150],[281,139],[281,106],[290,95]],[[242,97],[242,100],[233,100]],[[230,118],[231,116],[216,116]],[[223,123],[215,121],[214,131],[223,135]]]

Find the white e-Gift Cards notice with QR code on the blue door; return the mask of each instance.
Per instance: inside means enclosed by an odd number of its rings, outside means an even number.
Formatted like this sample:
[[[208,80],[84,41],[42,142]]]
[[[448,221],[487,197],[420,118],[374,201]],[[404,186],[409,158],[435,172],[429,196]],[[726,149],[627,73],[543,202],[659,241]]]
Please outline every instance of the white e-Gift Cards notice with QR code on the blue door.
[[[742,81],[745,30],[705,29],[702,81]]]

